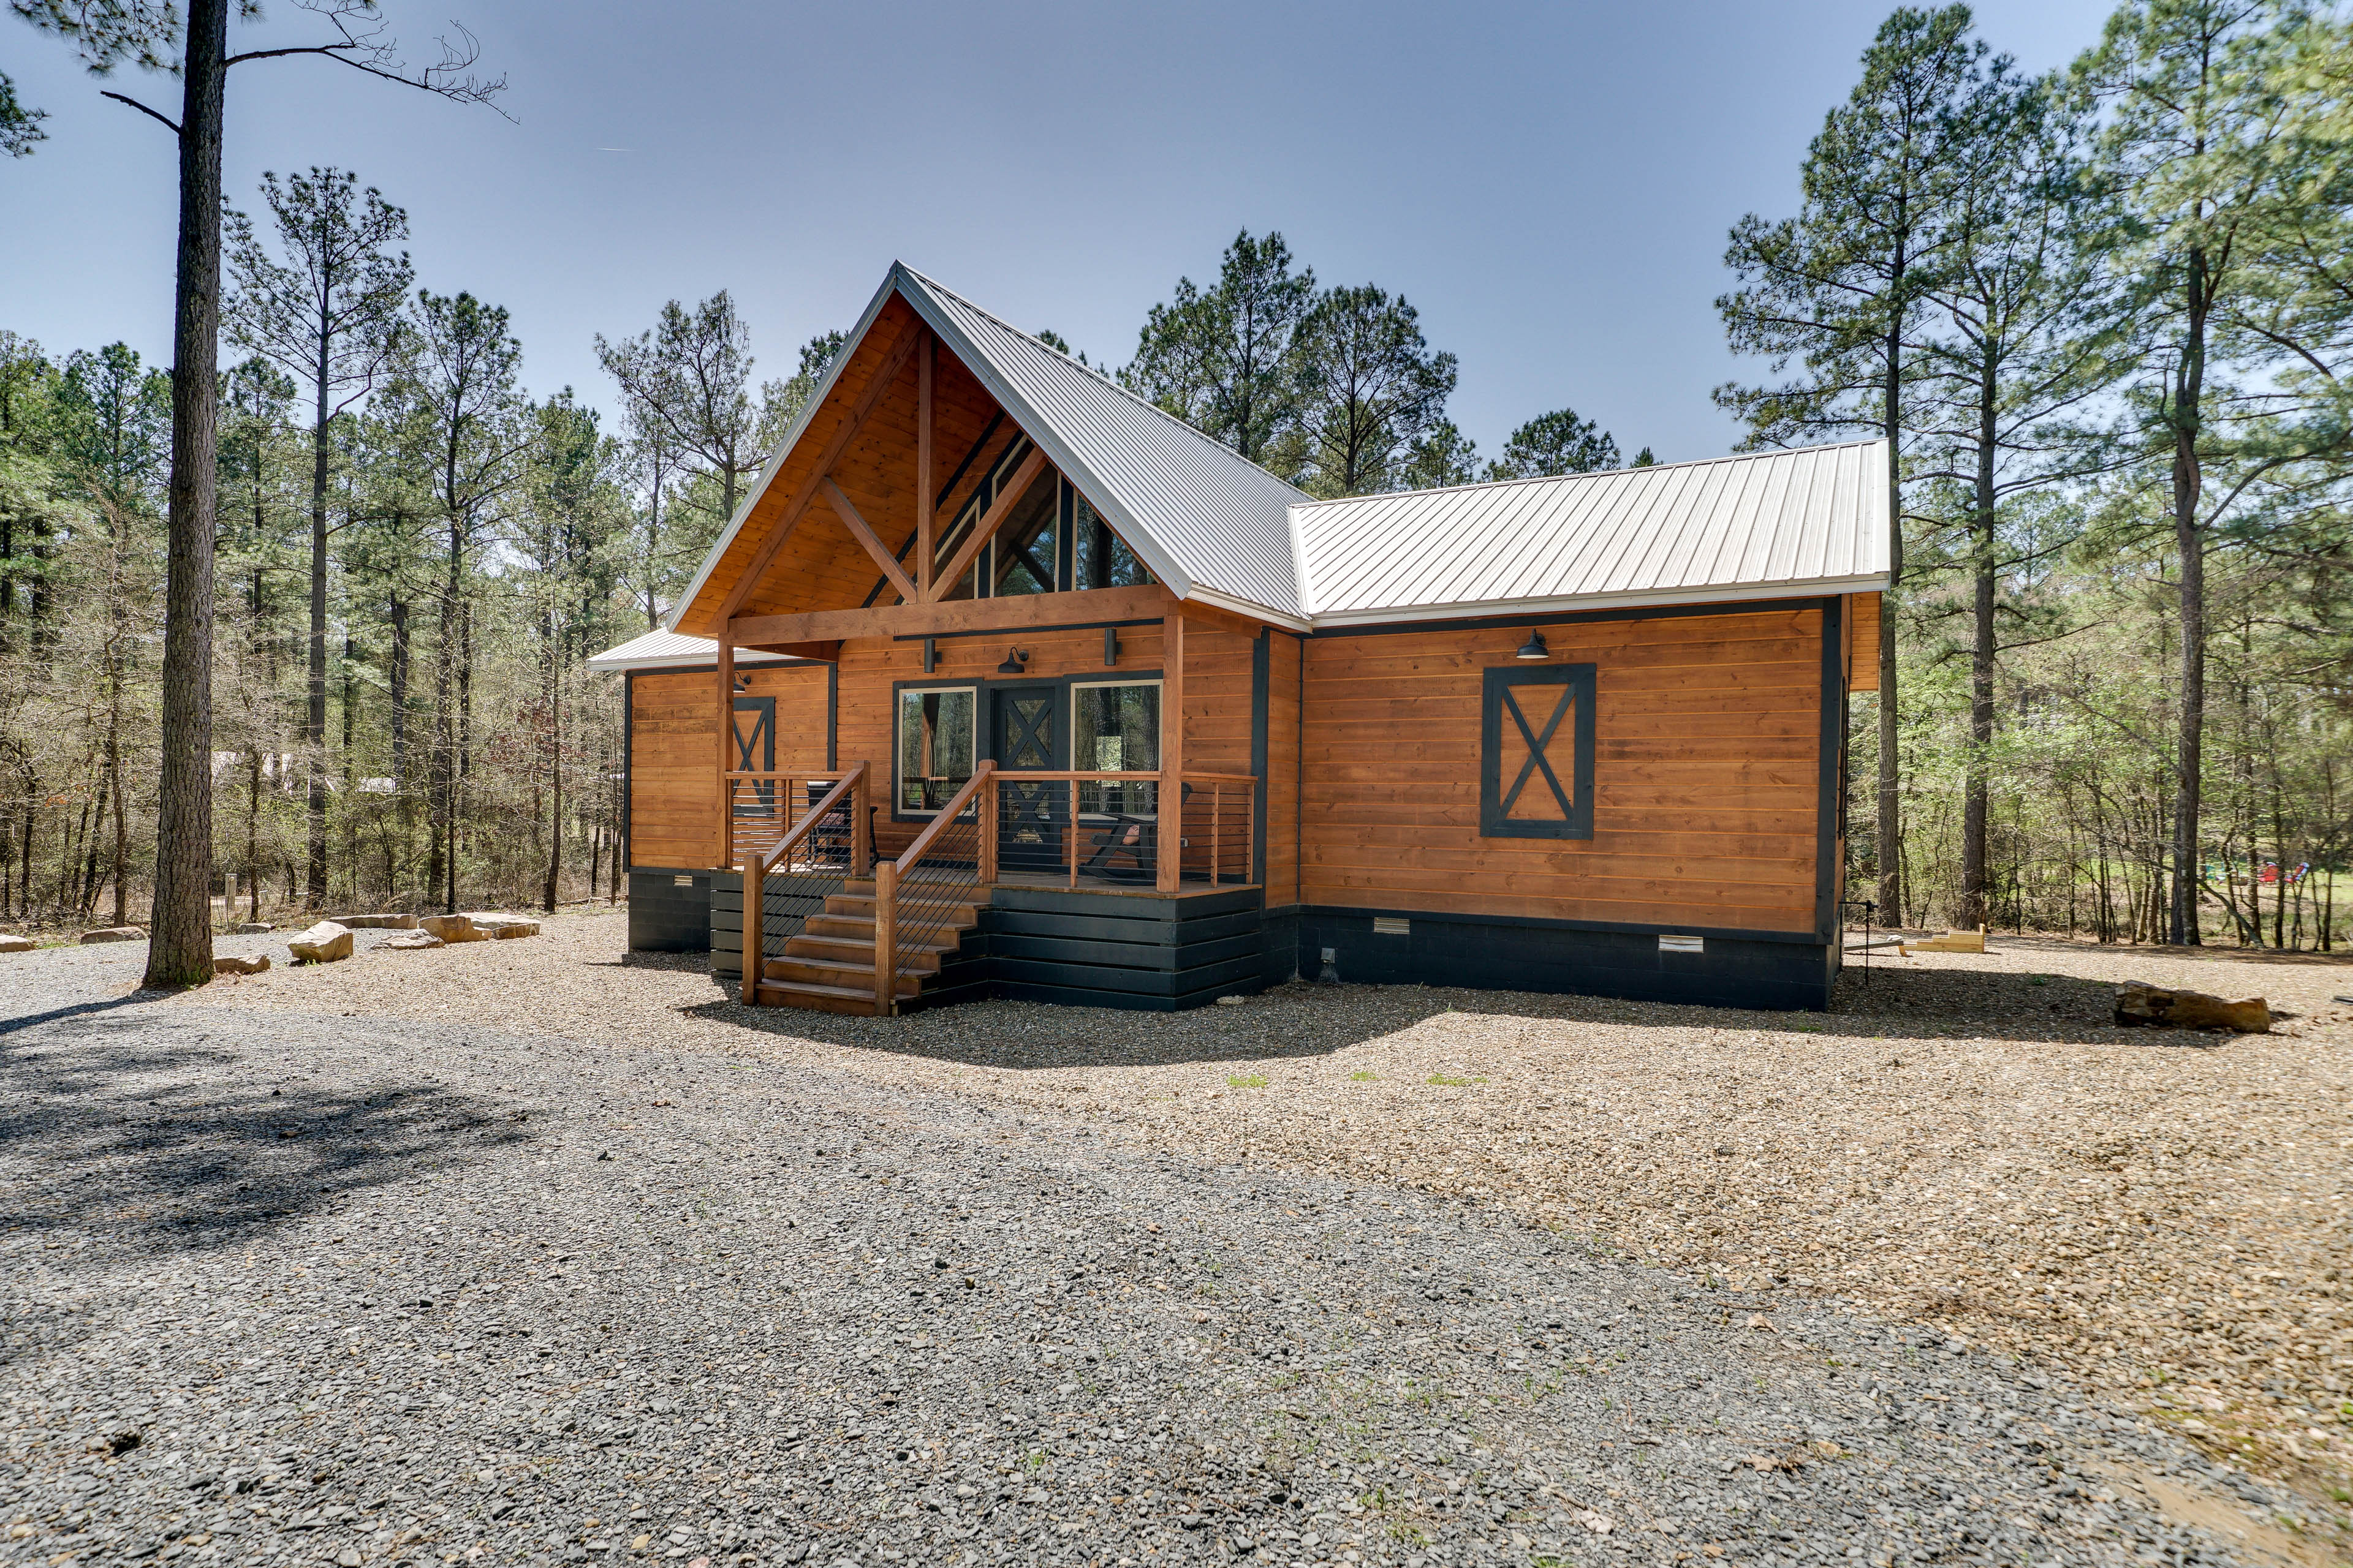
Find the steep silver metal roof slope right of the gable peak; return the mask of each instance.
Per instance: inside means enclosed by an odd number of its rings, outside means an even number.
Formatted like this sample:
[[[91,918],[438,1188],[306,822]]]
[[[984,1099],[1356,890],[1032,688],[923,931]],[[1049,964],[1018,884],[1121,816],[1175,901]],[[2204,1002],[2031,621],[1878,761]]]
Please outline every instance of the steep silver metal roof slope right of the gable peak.
[[[892,275],[1169,592],[1306,625],[1287,517],[1306,491],[922,273]]]

